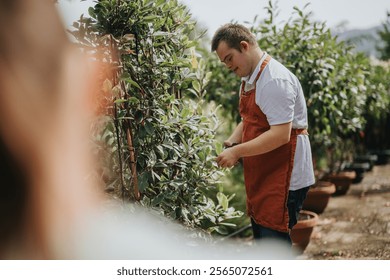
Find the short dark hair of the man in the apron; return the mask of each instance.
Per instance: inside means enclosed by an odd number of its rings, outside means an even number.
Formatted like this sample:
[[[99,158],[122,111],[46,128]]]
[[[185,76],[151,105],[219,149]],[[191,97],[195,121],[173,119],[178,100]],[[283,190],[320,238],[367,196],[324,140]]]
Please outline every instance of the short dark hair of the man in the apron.
[[[211,41],[211,51],[217,50],[221,41],[225,41],[230,48],[238,51],[241,51],[241,41],[246,41],[251,45],[257,43],[256,37],[250,30],[238,23],[228,23],[218,28]]]

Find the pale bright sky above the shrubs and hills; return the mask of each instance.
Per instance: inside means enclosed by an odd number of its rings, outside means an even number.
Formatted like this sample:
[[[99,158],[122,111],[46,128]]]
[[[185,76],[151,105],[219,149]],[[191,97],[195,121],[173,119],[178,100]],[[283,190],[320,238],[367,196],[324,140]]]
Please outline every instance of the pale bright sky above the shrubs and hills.
[[[267,16],[264,7],[268,0],[179,0],[187,5],[193,17],[202,27],[208,28],[212,36],[214,31],[231,20],[244,23],[252,22],[255,15],[259,19]],[[273,1],[275,2],[275,1]],[[279,21],[287,21],[293,13],[293,6],[303,8],[310,2],[308,11],[313,19],[326,21],[329,27],[336,27],[342,22],[347,29],[366,29],[381,25],[390,12],[390,0],[279,0]],[[92,0],[60,0],[59,10],[67,25],[77,20],[81,13],[87,14]]]

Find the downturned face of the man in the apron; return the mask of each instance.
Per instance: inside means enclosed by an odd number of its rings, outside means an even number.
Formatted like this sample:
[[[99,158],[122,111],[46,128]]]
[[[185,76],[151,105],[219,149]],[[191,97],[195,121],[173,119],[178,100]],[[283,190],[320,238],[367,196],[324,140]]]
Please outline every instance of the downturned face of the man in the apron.
[[[221,62],[233,71],[239,77],[246,77],[251,72],[250,61],[248,57],[249,44],[245,41],[240,43],[241,52],[230,48],[225,41],[221,41],[216,50]]]

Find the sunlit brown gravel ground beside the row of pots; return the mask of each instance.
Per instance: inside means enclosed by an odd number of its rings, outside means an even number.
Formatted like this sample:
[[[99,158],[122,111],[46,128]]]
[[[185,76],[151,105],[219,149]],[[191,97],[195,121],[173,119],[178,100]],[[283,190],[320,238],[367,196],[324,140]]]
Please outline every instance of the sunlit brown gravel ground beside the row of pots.
[[[300,258],[390,260],[390,164],[330,198]]]

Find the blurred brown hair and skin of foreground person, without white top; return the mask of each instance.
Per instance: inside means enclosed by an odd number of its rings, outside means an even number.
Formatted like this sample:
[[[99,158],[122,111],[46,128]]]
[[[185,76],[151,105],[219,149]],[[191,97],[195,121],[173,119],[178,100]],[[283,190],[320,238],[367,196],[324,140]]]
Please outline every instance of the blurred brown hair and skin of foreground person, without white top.
[[[83,59],[53,1],[0,1],[4,258],[58,257],[57,240],[98,201],[97,185],[85,180],[93,81]]]

